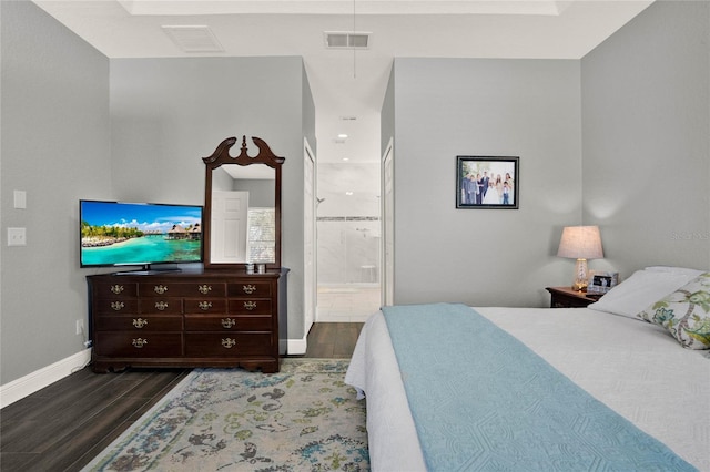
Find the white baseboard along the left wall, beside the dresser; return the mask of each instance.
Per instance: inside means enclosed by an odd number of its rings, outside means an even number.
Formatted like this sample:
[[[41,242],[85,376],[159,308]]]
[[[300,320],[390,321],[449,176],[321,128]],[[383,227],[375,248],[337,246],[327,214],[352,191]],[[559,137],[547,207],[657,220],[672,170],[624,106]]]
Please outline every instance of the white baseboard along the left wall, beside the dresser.
[[[17,380],[0,386],[0,408],[4,408],[8,404],[12,404],[18,400],[23,399],[44,387],[54,383],[64,377],[70,376],[77,370],[83,369],[91,361],[91,348],[84,349],[52,363],[28,373]]]

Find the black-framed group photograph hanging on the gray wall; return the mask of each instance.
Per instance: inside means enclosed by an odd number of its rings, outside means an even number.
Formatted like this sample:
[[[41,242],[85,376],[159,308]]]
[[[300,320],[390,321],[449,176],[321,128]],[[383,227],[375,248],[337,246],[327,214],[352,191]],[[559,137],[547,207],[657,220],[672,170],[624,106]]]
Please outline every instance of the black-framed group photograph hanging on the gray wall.
[[[520,157],[456,156],[456,207],[517,209]]]

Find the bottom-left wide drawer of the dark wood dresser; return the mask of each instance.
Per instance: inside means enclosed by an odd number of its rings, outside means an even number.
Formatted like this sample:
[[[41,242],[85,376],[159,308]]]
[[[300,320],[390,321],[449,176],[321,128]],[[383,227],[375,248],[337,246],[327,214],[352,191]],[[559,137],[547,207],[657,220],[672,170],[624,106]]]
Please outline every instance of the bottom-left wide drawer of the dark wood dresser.
[[[178,357],[182,356],[180,332],[97,332],[98,356]]]

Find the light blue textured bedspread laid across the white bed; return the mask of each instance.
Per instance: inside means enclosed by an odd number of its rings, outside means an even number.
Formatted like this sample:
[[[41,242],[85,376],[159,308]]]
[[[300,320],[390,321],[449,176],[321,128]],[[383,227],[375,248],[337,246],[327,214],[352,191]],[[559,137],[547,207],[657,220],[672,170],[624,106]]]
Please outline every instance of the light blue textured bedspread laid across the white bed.
[[[696,470],[471,308],[383,312],[429,471]]]

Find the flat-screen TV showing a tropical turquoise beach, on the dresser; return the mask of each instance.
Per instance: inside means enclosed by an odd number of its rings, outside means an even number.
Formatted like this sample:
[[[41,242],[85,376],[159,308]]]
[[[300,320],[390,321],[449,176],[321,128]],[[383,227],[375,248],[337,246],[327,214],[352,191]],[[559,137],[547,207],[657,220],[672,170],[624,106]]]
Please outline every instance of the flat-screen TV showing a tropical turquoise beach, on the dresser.
[[[81,267],[202,261],[202,206],[79,202]]]

